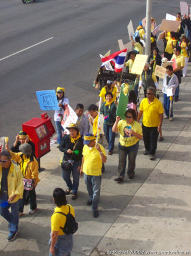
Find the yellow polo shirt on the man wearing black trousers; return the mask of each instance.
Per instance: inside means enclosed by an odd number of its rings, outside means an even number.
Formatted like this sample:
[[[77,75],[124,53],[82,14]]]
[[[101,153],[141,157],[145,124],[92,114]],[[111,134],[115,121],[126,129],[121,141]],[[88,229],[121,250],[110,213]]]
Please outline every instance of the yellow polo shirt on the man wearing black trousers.
[[[160,118],[159,115],[164,113],[162,103],[157,98],[149,104],[147,98],[141,101],[139,110],[143,112],[143,125],[145,127],[158,127]]]

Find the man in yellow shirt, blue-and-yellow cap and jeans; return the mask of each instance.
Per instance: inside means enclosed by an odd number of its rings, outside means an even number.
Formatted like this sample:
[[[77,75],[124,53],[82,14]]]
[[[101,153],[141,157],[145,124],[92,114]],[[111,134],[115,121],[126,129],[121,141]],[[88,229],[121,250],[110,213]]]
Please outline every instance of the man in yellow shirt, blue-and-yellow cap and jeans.
[[[106,162],[106,151],[101,144],[96,143],[96,137],[87,133],[84,136],[84,148],[82,152],[81,174],[84,173],[85,184],[89,194],[87,205],[92,204],[93,216],[98,217],[98,203],[100,201],[101,167]]]

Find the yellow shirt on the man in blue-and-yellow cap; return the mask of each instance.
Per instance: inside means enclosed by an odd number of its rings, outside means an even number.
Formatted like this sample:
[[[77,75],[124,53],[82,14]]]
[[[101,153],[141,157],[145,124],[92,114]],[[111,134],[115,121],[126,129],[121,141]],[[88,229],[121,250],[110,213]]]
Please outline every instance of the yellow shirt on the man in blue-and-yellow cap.
[[[101,151],[104,156],[106,156],[106,150],[101,146]],[[100,176],[101,175],[101,167],[102,161],[101,156],[96,147],[90,149],[87,145],[84,145],[82,155],[84,156],[84,165],[83,165],[83,173],[91,176]]]

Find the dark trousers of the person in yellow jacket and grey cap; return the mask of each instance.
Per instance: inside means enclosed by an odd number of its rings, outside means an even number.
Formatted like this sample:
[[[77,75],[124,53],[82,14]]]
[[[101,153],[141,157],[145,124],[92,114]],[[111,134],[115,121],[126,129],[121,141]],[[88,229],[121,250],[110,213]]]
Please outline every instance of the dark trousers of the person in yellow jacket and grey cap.
[[[32,190],[26,190],[23,191],[23,198],[19,200],[19,212],[23,212],[24,209],[24,203],[26,202],[26,198],[29,196],[30,198],[30,210],[35,210],[37,207],[36,203],[36,191],[35,188]]]

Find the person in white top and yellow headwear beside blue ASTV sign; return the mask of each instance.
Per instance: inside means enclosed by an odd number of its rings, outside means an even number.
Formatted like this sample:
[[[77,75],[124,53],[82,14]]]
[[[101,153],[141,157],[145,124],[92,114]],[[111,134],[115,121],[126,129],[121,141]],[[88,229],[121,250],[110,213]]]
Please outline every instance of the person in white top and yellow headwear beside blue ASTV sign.
[[[57,147],[59,147],[61,144],[62,131],[64,131],[64,128],[61,126],[61,120],[63,119],[65,105],[70,104],[68,98],[64,97],[64,92],[65,88],[57,87],[56,95],[58,100],[58,107],[60,107],[60,110],[55,110],[54,112],[54,122],[57,129]]]

